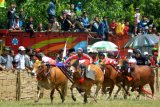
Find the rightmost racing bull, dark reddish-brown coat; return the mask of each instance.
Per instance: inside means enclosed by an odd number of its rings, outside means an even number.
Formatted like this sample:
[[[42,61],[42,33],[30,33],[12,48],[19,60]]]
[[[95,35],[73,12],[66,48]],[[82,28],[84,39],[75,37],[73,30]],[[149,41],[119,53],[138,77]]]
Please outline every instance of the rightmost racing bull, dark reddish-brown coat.
[[[118,66],[120,66],[124,70],[125,74],[128,74],[133,78],[133,84],[132,84],[131,91],[135,91],[138,88],[137,91],[139,92],[139,94],[137,98],[139,98],[140,94],[142,93],[143,86],[146,84],[149,84],[151,91],[152,91],[152,97],[153,97],[154,78],[155,78],[153,69],[149,66],[143,66],[143,65],[139,66],[136,64],[130,64],[130,66],[126,66],[128,64],[129,63],[127,60],[121,59],[119,60]],[[128,73],[128,67],[130,67],[130,73]]]

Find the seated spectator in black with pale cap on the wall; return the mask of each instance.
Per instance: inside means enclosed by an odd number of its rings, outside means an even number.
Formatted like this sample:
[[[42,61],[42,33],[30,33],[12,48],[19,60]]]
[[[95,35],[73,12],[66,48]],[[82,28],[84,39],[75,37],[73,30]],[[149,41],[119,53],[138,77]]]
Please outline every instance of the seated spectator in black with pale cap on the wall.
[[[63,21],[63,27],[62,27],[62,30],[64,31],[71,31],[72,28],[74,28],[74,25],[71,23],[71,13],[66,13],[67,17],[66,19],[64,19]]]

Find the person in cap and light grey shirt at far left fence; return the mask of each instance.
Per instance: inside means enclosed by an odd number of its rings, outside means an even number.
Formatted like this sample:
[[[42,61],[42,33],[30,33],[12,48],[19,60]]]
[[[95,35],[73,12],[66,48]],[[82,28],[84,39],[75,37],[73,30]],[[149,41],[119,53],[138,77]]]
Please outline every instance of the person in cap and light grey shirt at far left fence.
[[[10,48],[8,46],[3,47],[3,53],[2,56],[5,59],[4,67],[6,70],[13,69],[13,57],[9,54]]]

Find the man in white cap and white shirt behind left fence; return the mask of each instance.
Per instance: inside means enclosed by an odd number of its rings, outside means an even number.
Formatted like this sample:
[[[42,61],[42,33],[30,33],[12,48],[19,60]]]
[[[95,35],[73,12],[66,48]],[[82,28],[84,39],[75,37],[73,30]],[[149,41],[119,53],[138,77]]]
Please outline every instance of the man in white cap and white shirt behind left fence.
[[[25,48],[24,46],[20,46],[18,48],[18,54],[15,56],[14,61],[16,63],[16,68],[18,70],[25,70]]]

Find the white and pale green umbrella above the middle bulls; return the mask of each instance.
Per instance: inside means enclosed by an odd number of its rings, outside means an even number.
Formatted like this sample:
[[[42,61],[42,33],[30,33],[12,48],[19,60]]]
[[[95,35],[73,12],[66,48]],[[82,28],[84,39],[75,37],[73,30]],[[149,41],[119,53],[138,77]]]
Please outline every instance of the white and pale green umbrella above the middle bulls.
[[[118,47],[109,41],[99,41],[94,43],[91,46],[92,49],[96,49],[97,51],[103,51],[103,52],[108,52],[108,51],[118,51]]]

